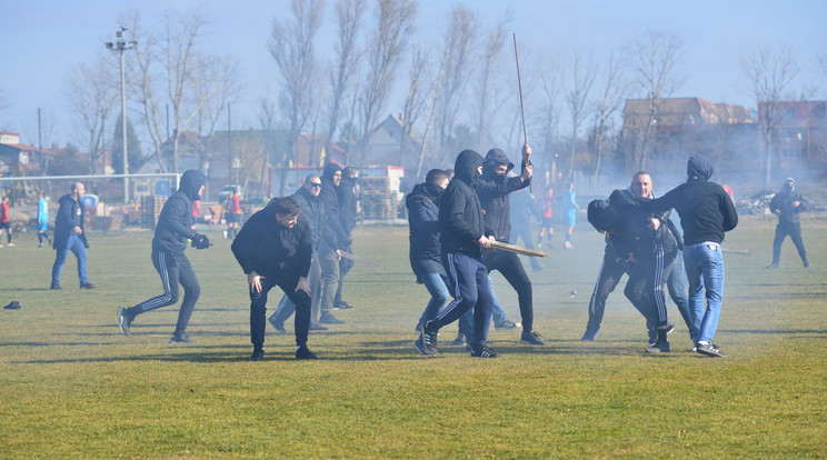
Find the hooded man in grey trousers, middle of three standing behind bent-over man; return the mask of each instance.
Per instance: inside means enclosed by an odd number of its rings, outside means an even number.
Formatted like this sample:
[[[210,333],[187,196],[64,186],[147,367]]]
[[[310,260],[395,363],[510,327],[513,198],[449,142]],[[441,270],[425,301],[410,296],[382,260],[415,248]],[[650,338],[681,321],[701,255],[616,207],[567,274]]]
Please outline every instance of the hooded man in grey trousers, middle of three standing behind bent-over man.
[[[337,189],[341,183],[341,167],[336,163],[327,163],[321,174],[321,192],[319,200],[325,209],[325,218],[330,229],[331,238],[321,241],[319,250],[319,264],[321,266],[321,318],[322,324],[343,324],[345,321],[333,316],[336,291],[339,289],[339,262],[346,247],[352,242],[348,232],[341,224],[341,211],[339,209],[339,196]]]

